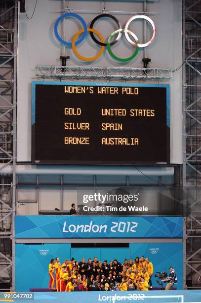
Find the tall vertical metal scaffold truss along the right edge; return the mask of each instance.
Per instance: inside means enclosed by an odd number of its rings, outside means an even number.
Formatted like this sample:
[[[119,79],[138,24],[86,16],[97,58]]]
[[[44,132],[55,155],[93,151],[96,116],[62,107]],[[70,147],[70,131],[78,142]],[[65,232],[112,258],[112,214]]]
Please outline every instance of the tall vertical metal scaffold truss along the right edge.
[[[201,288],[201,0],[183,0],[183,186],[186,284]],[[190,197],[190,198],[189,198]]]

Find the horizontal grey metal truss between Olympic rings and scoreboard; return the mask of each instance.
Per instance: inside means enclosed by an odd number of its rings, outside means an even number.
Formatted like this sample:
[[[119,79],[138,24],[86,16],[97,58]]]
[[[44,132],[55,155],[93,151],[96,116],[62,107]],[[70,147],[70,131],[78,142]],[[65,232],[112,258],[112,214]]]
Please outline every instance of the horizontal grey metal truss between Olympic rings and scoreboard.
[[[167,80],[172,70],[161,68],[36,66],[37,78],[107,79],[107,80]]]

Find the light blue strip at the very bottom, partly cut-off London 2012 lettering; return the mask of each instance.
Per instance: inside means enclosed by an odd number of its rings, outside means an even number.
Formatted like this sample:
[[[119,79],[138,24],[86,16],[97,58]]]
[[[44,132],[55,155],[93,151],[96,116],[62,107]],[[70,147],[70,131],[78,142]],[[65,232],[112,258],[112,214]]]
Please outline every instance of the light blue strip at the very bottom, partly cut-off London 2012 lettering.
[[[12,293],[11,293],[12,294]],[[0,301],[7,298],[8,293],[0,293]],[[9,296],[10,298],[11,296]],[[24,303],[30,303],[36,301],[37,303],[116,303],[116,302],[142,302],[142,303],[195,303],[201,302],[200,290],[185,290],[185,291],[148,291],[148,292],[68,292],[68,293],[56,293],[56,292],[41,292],[33,293],[33,301],[24,299]],[[12,302],[18,302],[19,300],[13,300]],[[5,300],[4,302],[8,302]],[[20,301],[21,302],[21,301]]]

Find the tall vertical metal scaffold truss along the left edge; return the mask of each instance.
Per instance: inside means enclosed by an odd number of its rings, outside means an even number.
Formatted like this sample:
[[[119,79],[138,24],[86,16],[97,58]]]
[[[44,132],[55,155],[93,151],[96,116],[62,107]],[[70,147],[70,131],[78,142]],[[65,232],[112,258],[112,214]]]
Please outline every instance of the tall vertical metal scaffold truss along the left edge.
[[[0,2],[0,291],[14,290],[17,11],[18,0]]]

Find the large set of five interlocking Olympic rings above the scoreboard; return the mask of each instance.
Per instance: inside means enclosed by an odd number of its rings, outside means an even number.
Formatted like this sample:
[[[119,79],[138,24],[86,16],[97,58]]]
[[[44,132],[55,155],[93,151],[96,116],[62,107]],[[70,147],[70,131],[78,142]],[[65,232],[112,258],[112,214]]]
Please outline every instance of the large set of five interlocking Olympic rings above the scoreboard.
[[[58,25],[59,25],[60,21],[61,21],[62,19],[64,19],[64,18],[66,18],[66,17],[75,17],[75,18],[79,19],[80,22],[82,23],[82,26],[83,26],[83,29],[81,29],[80,31],[78,31],[78,32],[73,36],[72,42],[67,42],[67,41],[63,40],[63,39],[60,37],[59,33],[58,33]],[[114,31],[114,32],[110,35],[110,37],[109,37],[109,39],[108,39],[107,42],[105,42],[103,36],[102,36],[97,30],[95,30],[95,29],[93,28],[94,23],[95,23],[98,19],[103,18],[103,17],[108,17],[108,18],[114,20],[114,21],[116,22],[117,26],[119,27],[118,30]],[[152,35],[152,38],[151,38],[147,43],[140,44],[140,43],[139,43],[139,40],[138,40],[138,38],[137,38],[137,36],[136,36],[133,32],[131,32],[131,31],[128,29],[128,26],[130,25],[130,23],[131,23],[133,20],[136,20],[136,19],[144,19],[144,20],[147,20],[147,21],[151,24],[151,26],[152,26],[153,35]],[[87,35],[87,32],[90,33],[90,36],[91,36],[91,38],[93,39],[93,41],[94,41],[96,44],[98,44],[99,46],[101,46],[100,51],[98,52],[98,54],[95,55],[95,56],[93,56],[93,57],[84,57],[84,56],[82,56],[82,55],[78,52],[78,50],[76,49],[76,46],[79,45],[79,44],[85,39],[85,37],[86,37],[86,35]],[[155,26],[155,24],[154,24],[154,21],[153,21],[151,18],[149,18],[148,16],[145,16],[145,15],[135,15],[135,16],[132,16],[132,17],[129,18],[128,21],[125,23],[124,29],[122,29],[120,21],[119,21],[115,16],[113,16],[113,15],[111,15],[111,14],[108,14],[108,13],[107,13],[107,14],[100,14],[100,15],[96,16],[96,17],[91,21],[91,24],[90,24],[89,28],[87,28],[86,22],[84,21],[84,19],[83,19],[80,15],[78,15],[78,14],[76,14],[76,13],[71,13],[71,12],[70,12],[70,13],[66,13],[66,14],[61,15],[61,16],[56,20],[55,25],[54,25],[54,33],[55,33],[56,38],[57,38],[62,44],[66,45],[66,46],[72,47],[72,49],[73,49],[75,55],[76,55],[78,58],[80,58],[81,60],[83,60],[83,61],[94,61],[94,60],[98,59],[98,58],[102,55],[102,53],[103,53],[103,51],[104,51],[104,48],[107,47],[108,52],[109,52],[109,54],[111,55],[111,57],[113,57],[113,58],[114,58],[115,60],[117,60],[117,61],[126,62],[126,61],[129,61],[129,60],[133,59],[133,58],[138,54],[138,51],[139,51],[140,48],[148,47],[148,46],[154,41],[154,39],[156,38],[157,29],[156,29],[156,26]],[[111,46],[113,46],[114,44],[116,44],[116,43],[120,40],[122,33],[124,33],[125,38],[126,38],[126,40],[129,42],[129,44],[132,45],[133,47],[135,47],[135,51],[133,52],[133,54],[132,54],[131,56],[127,57],[127,58],[120,58],[120,57],[116,56],[116,55],[114,54],[114,52],[111,50]],[[79,38],[79,36],[80,36],[81,34],[82,34],[82,36]],[[94,34],[95,34],[96,36],[99,37],[99,40],[96,39],[96,37],[94,36]],[[129,37],[129,35],[134,39],[134,41]],[[112,38],[114,38],[114,37],[116,37],[115,40],[114,40],[114,41],[111,41]],[[78,39],[78,40],[77,40],[77,39]]]

